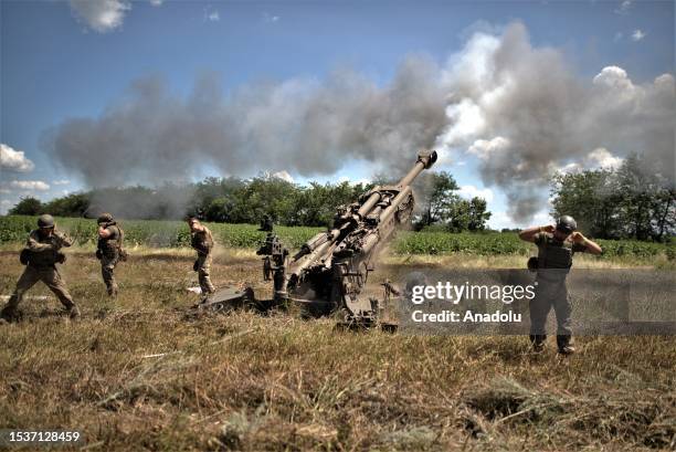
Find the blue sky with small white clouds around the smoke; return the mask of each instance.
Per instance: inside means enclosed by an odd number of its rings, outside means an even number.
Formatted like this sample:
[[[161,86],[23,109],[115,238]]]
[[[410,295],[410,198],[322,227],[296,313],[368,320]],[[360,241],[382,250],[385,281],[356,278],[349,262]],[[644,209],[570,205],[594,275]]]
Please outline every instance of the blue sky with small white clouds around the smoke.
[[[321,80],[340,66],[384,85],[411,53],[444,64],[473,31],[514,21],[526,27],[534,48],[557,49],[581,78],[605,66],[622,67],[634,84],[674,73],[668,1],[109,0],[107,9],[103,2],[88,11],[64,1],[0,4],[0,141],[32,161],[30,170],[3,161],[2,211],[21,196],[49,199],[86,188],[76,172],[46,155],[45,132],[68,118],[98,117],[131,82],[148,75],[161,75],[172,92],[186,95],[204,72],[218,74],[226,91],[261,81]],[[352,160],[332,175],[289,172],[298,182],[359,180],[373,168]],[[441,169],[452,171],[465,192],[488,193],[472,157],[447,160]],[[500,189],[488,190],[497,212],[492,225],[515,224],[504,214]]]

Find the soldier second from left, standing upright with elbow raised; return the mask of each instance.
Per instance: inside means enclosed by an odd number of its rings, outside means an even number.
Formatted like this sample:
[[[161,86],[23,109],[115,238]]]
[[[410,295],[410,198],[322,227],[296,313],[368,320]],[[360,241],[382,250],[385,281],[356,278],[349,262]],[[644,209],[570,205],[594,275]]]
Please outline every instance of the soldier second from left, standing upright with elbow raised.
[[[113,272],[119,261],[126,260],[126,253],[123,250],[125,233],[110,213],[102,213],[96,222],[98,223],[96,259],[101,261],[101,274],[106,283],[108,295],[116,297],[117,282]]]

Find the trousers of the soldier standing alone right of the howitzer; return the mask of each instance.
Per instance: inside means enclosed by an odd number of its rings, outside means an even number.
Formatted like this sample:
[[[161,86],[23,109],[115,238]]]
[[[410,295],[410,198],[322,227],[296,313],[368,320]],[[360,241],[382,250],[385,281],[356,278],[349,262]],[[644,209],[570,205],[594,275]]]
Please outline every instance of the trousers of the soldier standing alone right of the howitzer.
[[[547,337],[545,326],[547,315],[553,306],[557,317],[557,343],[563,347],[570,343],[572,336],[572,304],[568,295],[566,280],[548,282],[538,278],[536,296],[530,301],[530,338],[540,343]]]

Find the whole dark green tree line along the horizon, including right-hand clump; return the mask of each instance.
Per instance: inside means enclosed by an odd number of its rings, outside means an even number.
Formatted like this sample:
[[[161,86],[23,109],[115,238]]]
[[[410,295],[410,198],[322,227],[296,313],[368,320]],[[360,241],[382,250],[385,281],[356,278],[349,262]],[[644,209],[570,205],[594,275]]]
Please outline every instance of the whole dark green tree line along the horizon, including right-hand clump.
[[[158,188],[124,187],[73,193],[49,202],[23,198],[11,214],[49,212],[60,217],[95,217],[112,211],[139,220],[181,219],[197,214],[205,221],[258,223],[268,216],[276,224],[327,227],[339,206],[355,202],[376,185],[336,182],[300,186],[265,175],[252,178],[207,178],[191,185]],[[570,214],[585,234],[598,239],[666,241],[676,232],[674,181],[649,161],[627,157],[617,169],[558,174],[551,180],[551,216]],[[445,171],[425,172],[414,186],[415,230],[484,231],[492,213],[486,200],[461,198],[458,185]],[[504,232],[513,230],[504,230]]]

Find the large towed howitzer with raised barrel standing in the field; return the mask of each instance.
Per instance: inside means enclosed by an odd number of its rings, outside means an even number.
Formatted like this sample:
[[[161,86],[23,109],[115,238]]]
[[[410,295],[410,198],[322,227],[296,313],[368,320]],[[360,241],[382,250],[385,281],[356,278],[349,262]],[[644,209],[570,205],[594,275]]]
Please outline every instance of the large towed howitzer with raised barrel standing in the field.
[[[358,202],[340,207],[334,225],[300,246],[291,259],[274,233],[258,250],[264,255],[264,274],[273,280],[273,298],[257,306],[299,304],[314,316],[341,312],[345,320],[369,326],[378,322],[382,304],[361,296],[373,271],[373,257],[394,231],[411,218],[414,207],[411,183],[436,161],[436,153],[421,150],[413,168],[398,185],[374,187]],[[267,277],[266,277],[267,280]],[[385,286],[385,298],[391,293]],[[207,299],[241,304],[242,292],[216,291]],[[250,292],[251,296],[251,292]]]

